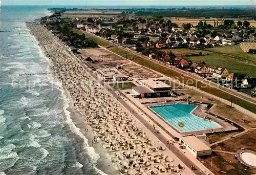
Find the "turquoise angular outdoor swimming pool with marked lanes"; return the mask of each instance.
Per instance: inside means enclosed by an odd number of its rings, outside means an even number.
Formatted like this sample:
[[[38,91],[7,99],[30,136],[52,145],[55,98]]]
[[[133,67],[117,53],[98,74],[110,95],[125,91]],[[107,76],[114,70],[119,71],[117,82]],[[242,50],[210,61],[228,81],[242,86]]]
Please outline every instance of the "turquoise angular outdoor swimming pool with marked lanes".
[[[150,106],[150,108],[165,119],[168,123],[176,127],[180,132],[194,130],[212,129],[221,127],[216,122],[204,120],[190,114],[197,105],[176,103],[170,105]],[[183,124],[182,124],[183,123]]]

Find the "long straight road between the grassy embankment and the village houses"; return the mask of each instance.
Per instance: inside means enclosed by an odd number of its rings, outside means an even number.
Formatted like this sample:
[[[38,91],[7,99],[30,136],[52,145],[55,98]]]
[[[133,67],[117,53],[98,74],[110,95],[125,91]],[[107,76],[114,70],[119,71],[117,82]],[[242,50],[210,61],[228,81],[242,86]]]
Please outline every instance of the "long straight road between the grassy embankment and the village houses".
[[[92,33],[90,33],[90,34],[92,34]],[[93,34],[93,35],[94,35],[94,34]],[[94,35],[94,36],[95,36],[95,37],[98,37],[98,38],[100,38],[100,39],[103,39],[103,40],[105,40],[105,41],[110,42],[109,40],[106,40],[106,39],[104,39],[104,38],[101,38],[101,37],[99,37],[99,36],[97,36],[97,35]],[[137,56],[139,56],[139,57],[143,57],[143,58],[145,58],[145,59],[148,59],[148,60],[150,60],[150,61],[153,61],[153,62],[155,62],[155,63],[157,63],[157,64],[159,64],[159,65],[162,65],[162,66],[164,66],[164,67],[166,67],[166,68],[168,68],[168,69],[170,69],[170,70],[173,70],[173,71],[176,71],[176,72],[178,72],[178,73],[180,73],[180,74],[183,74],[183,75],[186,75],[186,76],[188,76],[188,77],[194,78],[194,79],[196,79],[196,80],[198,80],[198,81],[200,81],[200,82],[202,82],[202,83],[210,84],[211,86],[214,86],[215,88],[218,88],[218,89],[220,89],[220,90],[222,90],[222,91],[224,91],[224,92],[226,92],[226,93],[229,93],[229,94],[232,95],[232,96],[241,98],[241,99],[243,99],[243,100],[245,100],[245,101],[247,101],[247,102],[250,102],[250,103],[253,103],[253,104],[256,105],[256,98],[253,98],[253,97],[251,97],[251,96],[249,96],[249,95],[247,95],[247,94],[244,94],[244,93],[241,93],[241,92],[237,92],[236,90],[233,90],[233,89],[226,88],[226,87],[224,87],[224,86],[221,86],[221,85],[219,85],[219,84],[217,84],[217,83],[215,83],[215,82],[209,81],[209,80],[207,80],[207,79],[202,79],[202,78],[201,78],[200,76],[198,76],[198,75],[190,74],[190,73],[188,73],[188,72],[186,72],[186,71],[183,71],[183,70],[181,70],[181,69],[174,68],[174,67],[169,67],[168,64],[165,64],[165,63],[163,63],[163,62],[160,62],[160,63],[159,63],[159,61],[157,61],[157,60],[150,59],[150,58],[148,58],[147,56],[144,56],[144,55],[139,54],[139,53],[137,53],[137,52],[131,51],[130,49],[127,49],[127,48],[125,48],[125,47],[122,47],[122,46],[120,46],[120,45],[118,45],[118,44],[116,44],[116,43],[113,43],[113,42],[110,42],[110,43],[112,43],[114,46],[117,46],[117,47],[119,47],[119,48],[121,48],[121,49],[126,50],[127,52],[131,52],[131,53],[133,53],[133,54],[135,54],[135,55],[137,55]],[[230,100],[231,100],[231,97],[230,97]]]

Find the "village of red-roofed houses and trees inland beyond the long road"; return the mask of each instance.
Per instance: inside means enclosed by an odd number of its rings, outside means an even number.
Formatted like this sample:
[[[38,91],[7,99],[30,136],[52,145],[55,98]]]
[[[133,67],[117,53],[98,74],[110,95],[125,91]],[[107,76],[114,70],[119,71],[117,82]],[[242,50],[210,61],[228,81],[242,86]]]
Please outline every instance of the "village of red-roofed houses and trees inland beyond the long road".
[[[56,21],[68,24],[71,28],[86,31],[109,42],[109,48],[121,47],[155,59],[169,67],[175,67],[204,79],[218,83],[227,88],[233,88],[251,96],[256,96],[256,78],[252,74],[244,74],[229,70],[225,64],[208,65],[202,53],[207,48],[239,45],[246,53],[253,55],[256,47],[255,27],[250,27],[247,20],[214,20],[214,25],[201,20],[197,26],[190,23],[178,26],[170,19],[161,17],[141,18],[134,15],[96,15],[93,17],[52,17],[45,18],[41,23],[48,26],[57,37],[66,42],[71,51],[76,48],[95,48],[94,40],[82,42],[87,36],[78,35],[75,38],[63,37]],[[62,29],[61,29],[62,30]],[[82,38],[81,38],[82,36]],[[175,55],[174,50],[186,49],[182,56]],[[193,51],[186,54],[186,51]],[[198,52],[197,52],[198,51]],[[196,61],[202,56],[202,61]],[[126,54],[127,57],[127,54]],[[193,58],[196,58],[194,61]],[[201,60],[201,58],[200,58]],[[252,68],[253,69],[253,68]],[[254,89],[253,89],[254,88]]]

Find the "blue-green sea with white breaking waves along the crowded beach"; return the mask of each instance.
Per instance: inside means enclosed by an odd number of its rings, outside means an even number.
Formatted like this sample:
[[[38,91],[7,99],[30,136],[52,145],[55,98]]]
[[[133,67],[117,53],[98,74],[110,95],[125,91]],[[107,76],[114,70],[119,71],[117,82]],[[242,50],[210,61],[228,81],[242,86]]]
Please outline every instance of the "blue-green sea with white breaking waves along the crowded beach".
[[[0,15],[0,174],[104,174],[99,155],[72,122],[70,100],[49,59],[26,27],[50,12],[2,6]]]

